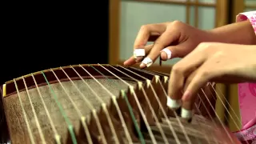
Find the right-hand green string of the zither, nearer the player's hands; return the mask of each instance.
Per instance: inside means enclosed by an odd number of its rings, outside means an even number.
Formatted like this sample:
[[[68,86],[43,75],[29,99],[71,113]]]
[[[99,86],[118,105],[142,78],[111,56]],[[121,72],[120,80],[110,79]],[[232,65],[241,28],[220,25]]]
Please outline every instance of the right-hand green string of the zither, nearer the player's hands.
[[[91,65],[90,65],[90,66],[91,66]],[[94,68],[94,66],[91,66],[91,67]],[[102,73],[101,73],[99,70],[97,70],[96,68],[94,68],[94,70],[96,70],[99,74],[102,74]],[[110,81],[110,79],[107,78],[106,75],[104,75],[104,74],[102,74],[102,75],[103,75],[107,80]],[[119,87],[117,83],[114,83],[114,84],[115,84],[117,87]],[[121,92],[122,92],[122,96],[125,98],[126,104],[127,104],[127,106],[128,106],[128,109],[129,109],[129,113],[130,113],[131,118],[132,118],[132,120],[133,120],[133,122],[134,122],[134,125],[135,125],[135,129],[136,129],[136,131],[138,132],[138,138],[140,139],[140,141],[142,142],[142,144],[146,144],[146,142],[145,142],[145,140],[144,140],[144,138],[143,138],[142,132],[141,132],[141,130],[139,130],[139,128],[138,128],[138,123],[136,122],[136,118],[135,118],[135,116],[134,116],[133,109],[132,109],[132,107],[130,106],[130,102],[128,101],[127,95],[126,95],[126,93],[125,93],[124,90],[121,90]]]

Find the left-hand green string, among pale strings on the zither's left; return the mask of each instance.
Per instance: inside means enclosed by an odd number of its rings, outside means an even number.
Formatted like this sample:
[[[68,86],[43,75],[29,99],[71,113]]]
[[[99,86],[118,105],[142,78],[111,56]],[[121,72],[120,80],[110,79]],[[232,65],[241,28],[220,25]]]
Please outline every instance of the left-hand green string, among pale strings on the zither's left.
[[[70,131],[70,135],[71,135],[72,142],[73,142],[74,144],[78,144],[77,139],[75,138],[75,134],[74,134],[74,130],[73,130],[73,125],[72,125],[72,123],[70,122],[69,118],[67,118],[66,113],[65,113],[65,111],[63,110],[61,103],[58,102],[58,98],[57,98],[56,94],[54,93],[54,90],[53,90],[52,87],[50,86],[50,83],[48,82],[48,80],[47,80],[47,78],[46,78],[46,75],[44,74],[43,71],[41,71],[41,73],[42,73],[43,77],[46,79],[46,83],[47,83],[47,85],[48,85],[49,88],[50,88],[51,94],[54,95],[54,100],[55,100],[55,102],[56,102],[57,105],[58,105],[58,109],[61,111],[62,116],[65,118],[66,124],[68,125],[68,130]]]

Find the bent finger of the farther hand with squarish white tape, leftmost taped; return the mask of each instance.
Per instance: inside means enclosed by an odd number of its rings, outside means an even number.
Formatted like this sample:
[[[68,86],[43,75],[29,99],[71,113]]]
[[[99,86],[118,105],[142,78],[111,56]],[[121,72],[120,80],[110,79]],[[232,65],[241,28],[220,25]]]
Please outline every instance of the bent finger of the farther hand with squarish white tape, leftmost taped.
[[[150,36],[159,36],[166,30],[166,23],[150,24],[142,26],[134,42],[134,58],[145,56],[144,46],[149,41]]]

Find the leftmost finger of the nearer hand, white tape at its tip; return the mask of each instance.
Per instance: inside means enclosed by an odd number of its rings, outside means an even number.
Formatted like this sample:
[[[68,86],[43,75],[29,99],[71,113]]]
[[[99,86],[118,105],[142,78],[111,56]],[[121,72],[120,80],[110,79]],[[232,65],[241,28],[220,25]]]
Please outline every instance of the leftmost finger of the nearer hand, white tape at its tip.
[[[170,97],[169,107],[171,109],[177,109],[178,106],[181,106],[180,101],[186,78],[189,77],[194,70],[197,70],[197,67],[201,66],[205,59],[201,52],[194,52],[188,54],[187,57],[173,66],[170,72],[168,87],[168,95]]]

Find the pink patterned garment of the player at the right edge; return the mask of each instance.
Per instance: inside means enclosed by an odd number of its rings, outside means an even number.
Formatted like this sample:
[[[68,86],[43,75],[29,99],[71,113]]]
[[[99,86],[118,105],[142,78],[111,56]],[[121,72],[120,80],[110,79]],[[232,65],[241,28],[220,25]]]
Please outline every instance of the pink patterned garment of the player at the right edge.
[[[237,22],[246,20],[250,20],[256,34],[256,11],[238,14]],[[256,144],[256,83],[238,84],[238,99],[242,119],[242,130],[234,134],[240,141]]]

